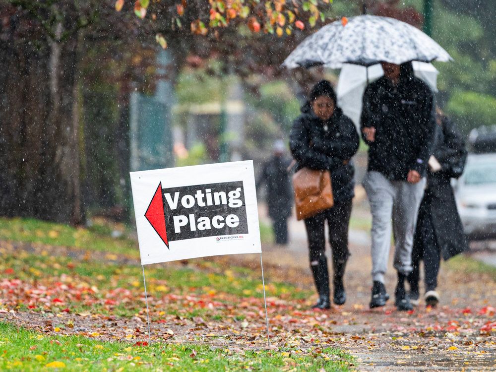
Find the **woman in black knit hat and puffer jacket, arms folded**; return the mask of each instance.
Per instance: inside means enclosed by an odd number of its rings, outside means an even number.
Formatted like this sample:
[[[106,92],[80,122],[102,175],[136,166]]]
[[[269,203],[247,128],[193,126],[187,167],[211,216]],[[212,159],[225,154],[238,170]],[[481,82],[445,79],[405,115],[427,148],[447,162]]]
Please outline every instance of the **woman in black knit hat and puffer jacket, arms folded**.
[[[293,124],[290,147],[297,170],[308,167],[331,173],[334,206],[305,219],[310,250],[310,268],[319,299],[313,306],[329,309],[329,274],[325,257],[324,224],[329,225],[332,249],[334,303],[346,301],[343,275],[348,250],[348,226],[354,196],[354,168],[351,157],[358,149],[359,137],[353,122],[336,106],[336,95],[327,80],[317,83]]]

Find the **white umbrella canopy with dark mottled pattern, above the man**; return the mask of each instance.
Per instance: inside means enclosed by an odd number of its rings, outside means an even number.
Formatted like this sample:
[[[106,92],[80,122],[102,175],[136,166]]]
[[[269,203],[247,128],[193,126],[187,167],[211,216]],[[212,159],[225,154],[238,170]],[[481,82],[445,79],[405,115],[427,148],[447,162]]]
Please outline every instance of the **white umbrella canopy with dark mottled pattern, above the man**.
[[[283,62],[288,68],[343,63],[448,62],[449,54],[408,23],[389,17],[359,15],[332,22],[307,37]]]

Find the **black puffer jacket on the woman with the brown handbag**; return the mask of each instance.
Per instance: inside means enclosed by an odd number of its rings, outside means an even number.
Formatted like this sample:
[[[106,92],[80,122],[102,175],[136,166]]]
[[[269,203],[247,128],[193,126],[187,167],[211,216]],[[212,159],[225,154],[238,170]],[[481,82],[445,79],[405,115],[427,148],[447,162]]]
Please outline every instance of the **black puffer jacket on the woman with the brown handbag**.
[[[355,195],[351,157],[357,152],[358,144],[355,125],[340,108],[336,107],[333,116],[324,123],[308,104],[295,120],[289,141],[297,170],[308,167],[330,171],[332,194],[338,202]]]

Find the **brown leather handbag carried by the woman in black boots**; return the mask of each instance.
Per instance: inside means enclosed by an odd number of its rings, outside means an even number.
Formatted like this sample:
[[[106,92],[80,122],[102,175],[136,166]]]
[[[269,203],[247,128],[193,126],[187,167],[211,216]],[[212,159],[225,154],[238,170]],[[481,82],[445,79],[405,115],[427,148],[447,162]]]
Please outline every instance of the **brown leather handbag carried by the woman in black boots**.
[[[307,167],[293,175],[296,218],[303,220],[334,205],[329,171],[314,171]]]

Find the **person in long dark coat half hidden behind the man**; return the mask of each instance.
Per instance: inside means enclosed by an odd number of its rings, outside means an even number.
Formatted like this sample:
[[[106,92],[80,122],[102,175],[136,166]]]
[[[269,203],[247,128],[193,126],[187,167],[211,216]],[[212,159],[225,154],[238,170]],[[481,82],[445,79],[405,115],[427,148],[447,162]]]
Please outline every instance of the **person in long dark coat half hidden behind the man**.
[[[424,260],[427,305],[439,302],[436,292],[441,256],[447,260],[468,248],[456,208],[451,178],[463,173],[467,151],[456,126],[437,109],[433,155],[429,159],[427,188],[420,204],[412,252],[413,271],[408,277],[410,302],[419,303],[419,264]]]

